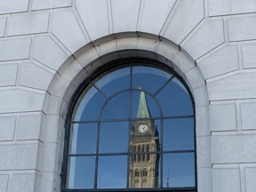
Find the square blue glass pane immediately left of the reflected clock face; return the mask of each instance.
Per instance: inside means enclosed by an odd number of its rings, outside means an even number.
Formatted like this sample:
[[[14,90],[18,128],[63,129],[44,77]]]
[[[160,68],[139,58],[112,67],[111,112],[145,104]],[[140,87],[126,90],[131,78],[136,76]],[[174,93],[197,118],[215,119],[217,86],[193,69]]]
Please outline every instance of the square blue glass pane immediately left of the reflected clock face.
[[[100,153],[127,152],[128,122],[100,123]]]

